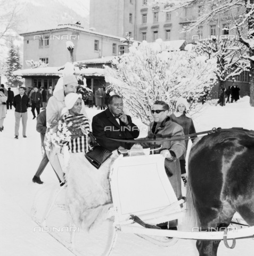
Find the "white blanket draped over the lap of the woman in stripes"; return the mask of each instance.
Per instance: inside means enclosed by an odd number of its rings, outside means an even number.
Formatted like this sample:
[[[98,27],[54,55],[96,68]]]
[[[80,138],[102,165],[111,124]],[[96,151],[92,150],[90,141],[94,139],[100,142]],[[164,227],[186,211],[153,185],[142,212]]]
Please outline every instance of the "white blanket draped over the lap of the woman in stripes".
[[[70,153],[65,170],[67,206],[76,226],[89,230],[106,219],[112,206],[108,177],[110,166],[117,157],[117,151],[113,151],[97,170],[87,161],[84,153]]]

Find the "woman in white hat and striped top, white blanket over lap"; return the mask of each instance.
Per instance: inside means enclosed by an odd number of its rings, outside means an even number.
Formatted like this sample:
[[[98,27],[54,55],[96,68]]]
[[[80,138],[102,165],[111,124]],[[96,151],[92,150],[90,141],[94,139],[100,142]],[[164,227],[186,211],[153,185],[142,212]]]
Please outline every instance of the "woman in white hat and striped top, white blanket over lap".
[[[117,153],[103,163],[100,170],[91,165],[85,157],[89,142],[88,119],[80,114],[81,95],[69,93],[65,99],[67,114],[64,122],[72,123],[69,147],[69,163],[65,170],[67,180],[67,205],[72,221],[84,229],[90,229],[106,219],[111,207],[109,170],[112,159]],[[66,111],[66,109],[63,109]]]

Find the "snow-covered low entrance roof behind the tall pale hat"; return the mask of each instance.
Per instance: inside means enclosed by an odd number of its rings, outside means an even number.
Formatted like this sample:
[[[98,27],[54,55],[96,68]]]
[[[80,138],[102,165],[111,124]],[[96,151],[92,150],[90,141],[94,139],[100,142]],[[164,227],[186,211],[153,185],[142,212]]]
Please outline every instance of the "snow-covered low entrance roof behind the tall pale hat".
[[[45,67],[45,68],[30,68],[21,69],[13,72],[16,76],[62,76],[61,67]],[[84,76],[100,76],[104,77],[104,69],[102,68],[75,68],[75,75]]]

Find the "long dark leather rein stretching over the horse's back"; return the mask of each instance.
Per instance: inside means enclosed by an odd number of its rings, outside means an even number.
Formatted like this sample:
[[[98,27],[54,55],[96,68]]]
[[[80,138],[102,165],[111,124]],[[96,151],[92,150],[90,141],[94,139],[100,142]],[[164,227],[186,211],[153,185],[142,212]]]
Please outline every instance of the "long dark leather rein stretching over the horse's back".
[[[119,142],[134,142],[134,143],[138,143],[138,142],[160,142],[160,141],[174,141],[174,140],[190,140],[193,139],[192,137],[196,137],[197,135],[203,135],[203,134],[212,134],[212,133],[216,133],[216,132],[241,132],[241,133],[246,133],[246,132],[250,132],[253,133],[254,135],[254,131],[253,130],[247,130],[247,129],[243,129],[242,127],[232,127],[229,129],[222,129],[221,127],[218,128],[212,128],[211,130],[208,131],[203,131],[203,132],[196,132],[196,133],[192,133],[192,134],[187,134],[184,137],[178,137],[178,138],[161,138],[161,139],[135,139],[135,140],[124,140],[124,139],[112,139],[107,137],[110,140],[114,140],[114,141],[119,141]],[[156,134],[157,136],[160,134]]]

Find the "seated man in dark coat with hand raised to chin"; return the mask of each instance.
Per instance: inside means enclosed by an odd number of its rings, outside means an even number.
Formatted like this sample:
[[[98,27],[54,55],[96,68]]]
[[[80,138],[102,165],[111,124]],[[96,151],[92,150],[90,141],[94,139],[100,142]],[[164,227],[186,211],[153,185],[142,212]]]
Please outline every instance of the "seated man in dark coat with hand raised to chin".
[[[108,108],[93,117],[92,129],[97,142],[113,151],[118,148],[130,149],[131,143],[113,141],[113,139],[135,139],[140,134],[130,116],[123,112],[124,105],[119,95],[109,98]],[[108,137],[108,138],[107,138]]]

